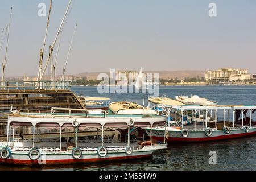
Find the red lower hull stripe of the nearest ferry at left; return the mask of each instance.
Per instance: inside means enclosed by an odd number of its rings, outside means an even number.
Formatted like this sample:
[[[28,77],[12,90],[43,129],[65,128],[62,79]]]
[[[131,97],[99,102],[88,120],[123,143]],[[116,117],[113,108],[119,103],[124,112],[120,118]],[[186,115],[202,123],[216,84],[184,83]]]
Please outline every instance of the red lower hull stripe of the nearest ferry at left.
[[[148,158],[151,155],[152,154],[137,155],[137,156],[123,156],[123,157],[118,157],[118,158],[98,158],[98,159],[46,160],[46,164],[44,164],[44,165],[98,163],[98,162],[108,162],[108,161],[112,161],[112,160]],[[33,160],[14,160],[14,159],[1,159],[1,158],[0,158],[0,163],[26,165],[26,166],[39,165],[37,160],[35,160],[35,161],[33,161]]]

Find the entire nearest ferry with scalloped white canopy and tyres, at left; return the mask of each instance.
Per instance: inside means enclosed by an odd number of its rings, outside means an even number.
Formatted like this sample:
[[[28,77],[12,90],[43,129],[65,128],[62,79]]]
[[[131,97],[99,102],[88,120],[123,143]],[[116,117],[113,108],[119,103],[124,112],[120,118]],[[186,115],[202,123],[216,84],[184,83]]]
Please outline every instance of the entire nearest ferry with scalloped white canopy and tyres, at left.
[[[58,113],[65,110],[67,113]],[[84,113],[79,113],[80,111]],[[166,117],[158,115],[107,115],[89,114],[87,110],[52,108],[51,111],[19,112],[8,115],[7,139],[0,142],[0,163],[18,165],[56,165],[104,162],[147,158],[156,150],[167,148],[166,143],[152,140],[131,140],[130,131],[141,127],[166,126]],[[31,127],[32,139],[15,138],[19,127]],[[57,138],[40,138],[40,129],[59,131]],[[96,130],[101,136],[79,138],[81,130]],[[106,138],[108,129],[115,129],[113,140]],[[127,142],[122,143],[118,130],[127,129]],[[63,130],[73,134],[72,139],[61,135]],[[67,141],[66,141],[67,138]]]

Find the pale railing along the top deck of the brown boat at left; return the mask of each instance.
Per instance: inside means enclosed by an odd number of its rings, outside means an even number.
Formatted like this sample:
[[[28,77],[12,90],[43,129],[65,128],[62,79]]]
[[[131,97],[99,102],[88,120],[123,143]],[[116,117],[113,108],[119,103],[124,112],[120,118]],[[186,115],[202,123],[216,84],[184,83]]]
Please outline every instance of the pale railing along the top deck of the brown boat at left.
[[[2,81],[0,90],[71,90],[69,81]]]

